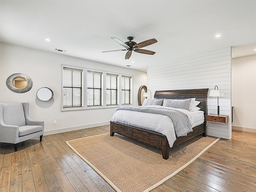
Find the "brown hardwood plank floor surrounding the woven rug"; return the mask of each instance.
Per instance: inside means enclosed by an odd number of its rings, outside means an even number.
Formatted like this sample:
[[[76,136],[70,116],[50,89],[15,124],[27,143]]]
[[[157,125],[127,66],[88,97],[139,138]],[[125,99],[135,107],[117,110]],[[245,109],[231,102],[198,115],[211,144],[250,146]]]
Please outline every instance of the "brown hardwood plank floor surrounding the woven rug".
[[[115,192],[66,144],[109,132],[99,126],[0,144],[0,192]],[[256,192],[256,133],[234,130],[152,192]]]

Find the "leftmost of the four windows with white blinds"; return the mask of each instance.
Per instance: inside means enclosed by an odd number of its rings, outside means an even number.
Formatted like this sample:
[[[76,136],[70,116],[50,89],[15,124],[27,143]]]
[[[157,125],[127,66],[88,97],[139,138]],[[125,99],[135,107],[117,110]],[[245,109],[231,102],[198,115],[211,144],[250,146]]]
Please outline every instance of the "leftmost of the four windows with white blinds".
[[[63,108],[82,107],[83,70],[63,68]]]

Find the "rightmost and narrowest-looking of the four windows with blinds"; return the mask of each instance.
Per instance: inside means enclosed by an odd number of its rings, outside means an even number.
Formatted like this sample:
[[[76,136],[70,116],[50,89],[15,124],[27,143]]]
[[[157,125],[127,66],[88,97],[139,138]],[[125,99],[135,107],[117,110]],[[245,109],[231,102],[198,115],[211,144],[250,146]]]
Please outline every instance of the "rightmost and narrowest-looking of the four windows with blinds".
[[[131,77],[122,76],[122,104],[131,104]]]

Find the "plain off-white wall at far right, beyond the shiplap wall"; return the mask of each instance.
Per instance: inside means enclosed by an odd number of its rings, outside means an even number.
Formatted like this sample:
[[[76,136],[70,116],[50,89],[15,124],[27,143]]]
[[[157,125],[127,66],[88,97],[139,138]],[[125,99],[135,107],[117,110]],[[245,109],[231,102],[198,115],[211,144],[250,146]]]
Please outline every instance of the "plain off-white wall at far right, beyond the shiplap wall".
[[[256,132],[255,72],[256,55],[232,59],[233,129]]]

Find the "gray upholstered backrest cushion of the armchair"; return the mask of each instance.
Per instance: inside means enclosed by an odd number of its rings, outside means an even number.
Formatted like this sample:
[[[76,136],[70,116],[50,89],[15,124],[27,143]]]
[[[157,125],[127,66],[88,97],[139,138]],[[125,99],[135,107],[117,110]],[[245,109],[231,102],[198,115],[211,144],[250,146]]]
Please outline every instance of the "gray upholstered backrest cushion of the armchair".
[[[3,120],[6,125],[24,126],[26,119],[22,103],[3,103]]]

